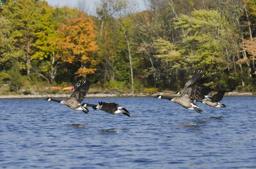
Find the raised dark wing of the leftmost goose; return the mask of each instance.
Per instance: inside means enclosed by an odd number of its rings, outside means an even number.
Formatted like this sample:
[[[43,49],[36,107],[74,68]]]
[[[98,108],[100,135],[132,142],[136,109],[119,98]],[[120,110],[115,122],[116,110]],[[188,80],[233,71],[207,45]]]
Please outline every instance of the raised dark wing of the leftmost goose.
[[[79,80],[76,80],[75,87],[72,89],[70,96],[68,99],[74,99],[81,103],[85,96],[87,95],[90,88],[90,82],[85,81],[84,78],[81,79],[81,82]]]

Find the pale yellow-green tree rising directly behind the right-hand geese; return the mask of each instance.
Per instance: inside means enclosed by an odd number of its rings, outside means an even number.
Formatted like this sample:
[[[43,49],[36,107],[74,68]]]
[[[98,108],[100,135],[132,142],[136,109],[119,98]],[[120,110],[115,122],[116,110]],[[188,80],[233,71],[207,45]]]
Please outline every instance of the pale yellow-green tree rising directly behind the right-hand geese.
[[[227,86],[221,81],[225,65],[229,65],[225,57],[226,48],[230,48],[227,20],[215,10],[195,10],[191,15],[182,14],[176,23],[176,28],[185,31],[180,52],[186,56],[187,66],[207,70],[209,76],[215,77],[211,85]]]

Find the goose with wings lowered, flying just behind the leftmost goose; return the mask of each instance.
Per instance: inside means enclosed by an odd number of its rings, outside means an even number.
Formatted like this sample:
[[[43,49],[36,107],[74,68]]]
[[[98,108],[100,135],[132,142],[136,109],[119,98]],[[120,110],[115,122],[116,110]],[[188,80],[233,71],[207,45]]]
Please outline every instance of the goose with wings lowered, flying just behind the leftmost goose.
[[[83,103],[82,104],[83,107],[93,107],[94,110],[99,109],[111,114],[119,114],[122,113],[124,115],[128,115],[130,117],[130,113],[128,112],[128,110],[126,110],[125,108],[120,107],[118,104],[116,103],[110,103],[110,102],[99,102],[98,105],[96,104],[87,104],[87,103]]]

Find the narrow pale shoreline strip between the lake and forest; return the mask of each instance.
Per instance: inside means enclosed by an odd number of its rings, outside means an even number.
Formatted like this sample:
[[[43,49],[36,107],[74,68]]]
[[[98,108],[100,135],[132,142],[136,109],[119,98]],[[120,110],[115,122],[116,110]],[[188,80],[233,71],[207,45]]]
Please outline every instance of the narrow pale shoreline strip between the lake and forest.
[[[107,97],[154,97],[158,94],[164,96],[177,96],[173,92],[149,93],[124,93],[124,94],[106,94],[106,93],[89,93],[87,98],[107,98]],[[0,99],[40,99],[40,98],[68,98],[70,94],[28,94],[28,95],[0,95]],[[256,96],[250,92],[238,93],[236,91],[225,93],[224,96]]]

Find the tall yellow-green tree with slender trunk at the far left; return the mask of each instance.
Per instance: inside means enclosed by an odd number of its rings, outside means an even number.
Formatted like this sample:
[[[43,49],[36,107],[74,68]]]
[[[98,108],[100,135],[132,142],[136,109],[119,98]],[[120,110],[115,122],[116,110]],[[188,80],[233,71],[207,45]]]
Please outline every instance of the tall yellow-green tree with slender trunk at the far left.
[[[12,23],[12,37],[15,39],[15,47],[23,50],[26,54],[26,70],[30,75],[31,45],[35,42],[35,27],[38,16],[44,13],[45,1],[35,0],[10,0],[8,5],[3,6],[3,15]]]

